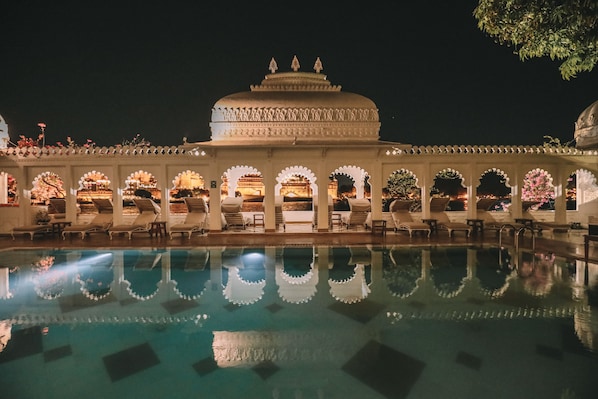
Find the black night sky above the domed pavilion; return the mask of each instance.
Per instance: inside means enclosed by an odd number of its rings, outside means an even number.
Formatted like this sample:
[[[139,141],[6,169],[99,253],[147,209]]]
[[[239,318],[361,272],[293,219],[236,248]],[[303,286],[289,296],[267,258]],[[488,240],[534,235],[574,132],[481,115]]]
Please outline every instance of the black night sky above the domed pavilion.
[[[209,140],[211,108],[297,55],[378,106],[383,140],[542,144],[573,138],[598,70],[521,62],[476,26],[472,0],[12,1],[1,10],[0,115],[18,135],[114,145]],[[379,4],[383,3],[383,4]]]

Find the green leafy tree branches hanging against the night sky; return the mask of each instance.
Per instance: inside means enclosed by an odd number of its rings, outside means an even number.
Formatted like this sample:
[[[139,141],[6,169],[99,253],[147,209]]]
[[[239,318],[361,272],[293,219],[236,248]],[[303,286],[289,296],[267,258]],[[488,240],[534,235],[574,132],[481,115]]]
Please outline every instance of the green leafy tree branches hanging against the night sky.
[[[598,62],[596,0],[479,0],[473,15],[482,31],[514,46],[522,61],[563,60],[563,79],[591,71]]]

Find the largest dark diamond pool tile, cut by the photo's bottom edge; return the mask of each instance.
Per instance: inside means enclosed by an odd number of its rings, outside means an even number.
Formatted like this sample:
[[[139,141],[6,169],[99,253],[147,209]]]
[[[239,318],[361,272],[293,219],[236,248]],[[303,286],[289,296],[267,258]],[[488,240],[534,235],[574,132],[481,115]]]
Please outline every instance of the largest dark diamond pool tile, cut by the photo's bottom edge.
[[[368,342],[342,370],[387,398],[406,398],[425,363],[377,341]]]

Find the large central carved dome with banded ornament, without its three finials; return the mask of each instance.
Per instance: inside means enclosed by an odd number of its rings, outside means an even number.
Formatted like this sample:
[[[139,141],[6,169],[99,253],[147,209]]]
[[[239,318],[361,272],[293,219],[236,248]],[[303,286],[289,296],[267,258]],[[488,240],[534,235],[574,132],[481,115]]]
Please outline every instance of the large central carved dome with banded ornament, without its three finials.
[[[376,104],[359,94],[341,92],[319,70],[273,72],[250,88],[214,104],[213,142],[347,144],[379,139]]]

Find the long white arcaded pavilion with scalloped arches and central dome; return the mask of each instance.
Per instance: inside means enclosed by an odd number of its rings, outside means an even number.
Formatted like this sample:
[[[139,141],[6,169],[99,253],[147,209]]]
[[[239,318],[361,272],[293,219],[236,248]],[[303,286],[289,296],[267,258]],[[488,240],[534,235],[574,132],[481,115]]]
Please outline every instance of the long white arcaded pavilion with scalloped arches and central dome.
[[[276,223],[277,197],[308,199],[313,207],[286,210],[287,220],[313,224],[314,232],[334,231],[328,204],[329,196],[337,200],[340,195],[339,181],[352,184],[343,196],[370,200],[371,219],[390,221],[384,204],[393,197],[388,187],[397,172],[415,182],[421,206],[414,216],[420,220],[430,215],[430,199],[443,195],[435,190],[435,179],[446,175],[460,180],[466,204],[450,212],[451,220],[476,218],[477,188],[487,173],[498,175],[510,191],[510,205],[496,211],[498,219],[521,217],[522,204],[530,200],[530,176],[538,175],[546,181],[549,193],[544,195],[552,206],[532,209],[535,218],[583,226],[598,215],[598,101],[575,123],[576,147],[413,146],[381,141],[374,101],[333,85],[319,58],[313,72],[300,69],[296,57],[288,72],[279,72],[272,59],[261,84],[218,100],[206,142],[14,145],[0,117],[0,233],[31,223],[49,197],[66,199],[66,219],[74,223],[93,216],[84,209],[90,197],[111,198],[114,223],[123,223],[132,218],[127,203],[139,189],[160,203],[160,219],[169,225],[182,218],[176,195],[187,190],[209,199],[208,232],[223,229],[216,204],[227,196],[259,199],[257,208],[244,213],[248,220],[252,213],[263,213],[266,232],[283,231]]]

